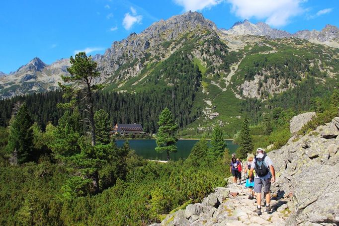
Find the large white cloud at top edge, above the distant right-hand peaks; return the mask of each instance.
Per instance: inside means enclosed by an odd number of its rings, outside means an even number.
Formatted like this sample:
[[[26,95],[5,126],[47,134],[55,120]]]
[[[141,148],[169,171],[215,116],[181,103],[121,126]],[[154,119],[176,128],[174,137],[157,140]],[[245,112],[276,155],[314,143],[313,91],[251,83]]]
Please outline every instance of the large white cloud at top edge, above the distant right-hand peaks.
[[[284,26],[291,17],[305,11],[301,4],[307,0],[227,0],[231,11],[243,19],[252,17],[272,26]]]

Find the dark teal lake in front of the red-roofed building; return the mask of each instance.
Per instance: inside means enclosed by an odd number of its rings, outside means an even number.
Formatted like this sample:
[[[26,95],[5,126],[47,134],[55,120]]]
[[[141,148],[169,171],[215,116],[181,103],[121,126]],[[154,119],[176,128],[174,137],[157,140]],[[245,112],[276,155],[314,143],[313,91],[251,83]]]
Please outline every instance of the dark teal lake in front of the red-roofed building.
[[[126,140],[116,140],[116,144],[120,148],[125,141]],[[198,142],[198,140],[178,140],[176,143],[178,151],[176,153],[171,153],[170,158],[172,160],[187,158],[196,142]],[[233,144],[232,141],[227,140],[225,142],[230,153],[234,153],[238,148],[238,145]],[[167,160],[166,152],[158,153],[155,151],[155,148],[157,147],[156,140],[128,140],[128,143],[131,149],[133,149],[138,155],[143,156],[145,159]],[[208,143],[210,143],[210,141],[208,141]]]

